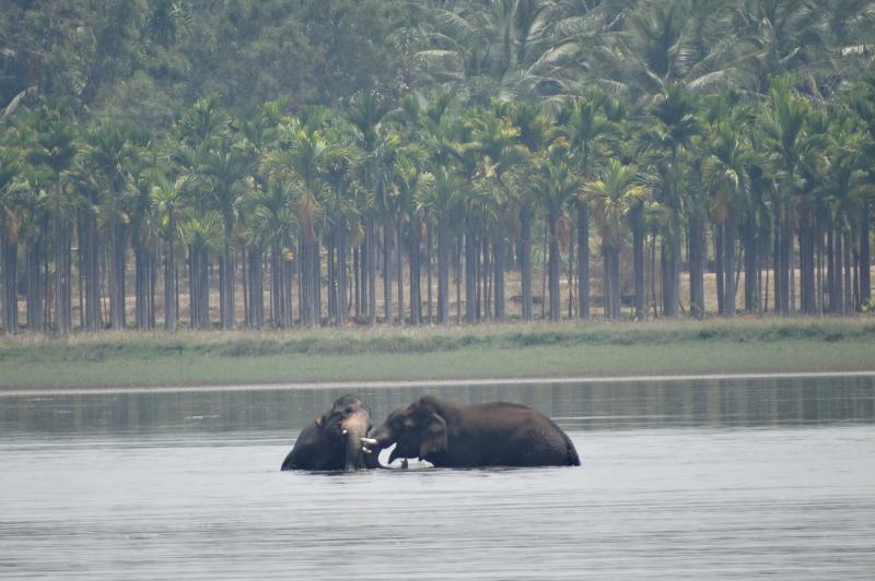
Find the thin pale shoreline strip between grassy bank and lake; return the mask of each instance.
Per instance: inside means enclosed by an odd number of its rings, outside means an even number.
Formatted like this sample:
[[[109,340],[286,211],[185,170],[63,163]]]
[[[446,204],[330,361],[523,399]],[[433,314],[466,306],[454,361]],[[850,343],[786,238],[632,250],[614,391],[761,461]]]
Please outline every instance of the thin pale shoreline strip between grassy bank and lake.
[[[733,381],[769,379],[817,379],[817,378],[875,378],[875,370],[868,371],[786,371],[750,374],[675,374],[675,375],[633,375],[604,377],[533,377],[533,378],[479,378],[479,379],[436,379],[436,380],[392,380],[392,381],[308,381],[295,383],[254,383],[234,386],[131,386],[93,388],[33,388],[0,390],[2,398],[54,396],[54,395],[98,395],[117,393],[188,393],[188,392],[241,392],[241,391],[293,391],[327,389],[404,389],[424,387],[458,386],[521,386],[527,383],[635,383],[646,381]]]

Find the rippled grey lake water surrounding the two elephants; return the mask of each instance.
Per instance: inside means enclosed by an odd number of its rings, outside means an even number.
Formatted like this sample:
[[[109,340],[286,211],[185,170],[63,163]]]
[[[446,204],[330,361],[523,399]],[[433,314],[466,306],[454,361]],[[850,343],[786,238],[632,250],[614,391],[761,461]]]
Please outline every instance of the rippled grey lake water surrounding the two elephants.
[[[371,388],[525,403],[584,465],[279,472],[346,391],[0,396],[0,578],[875,577],[872,378]]]

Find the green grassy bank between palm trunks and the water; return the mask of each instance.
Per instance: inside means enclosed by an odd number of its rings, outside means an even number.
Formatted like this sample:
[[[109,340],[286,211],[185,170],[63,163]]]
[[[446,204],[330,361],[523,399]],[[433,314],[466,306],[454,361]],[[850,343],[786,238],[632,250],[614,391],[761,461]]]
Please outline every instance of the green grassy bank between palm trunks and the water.
[[[0,389],[870,369],[868,318],[0,339]]]

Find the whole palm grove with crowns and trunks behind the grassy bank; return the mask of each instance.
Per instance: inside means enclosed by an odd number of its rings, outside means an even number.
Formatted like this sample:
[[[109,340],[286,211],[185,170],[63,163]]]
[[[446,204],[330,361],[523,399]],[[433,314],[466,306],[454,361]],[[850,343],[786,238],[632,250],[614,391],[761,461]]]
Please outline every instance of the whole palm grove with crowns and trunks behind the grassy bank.
[[[5,332],[870,307],[875,2],[3,7]]]

